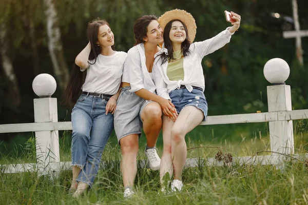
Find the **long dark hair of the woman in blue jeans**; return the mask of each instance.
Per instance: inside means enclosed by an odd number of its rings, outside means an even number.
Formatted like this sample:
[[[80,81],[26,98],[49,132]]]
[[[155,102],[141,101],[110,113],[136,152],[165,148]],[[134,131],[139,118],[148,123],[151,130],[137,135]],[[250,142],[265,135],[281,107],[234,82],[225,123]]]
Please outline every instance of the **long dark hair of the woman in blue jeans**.
[[[95,64],[98,55],[102,52],[101,47],[97,45],[97,41],[98,41],[99,29],[103,25],[109,26],[106,20],[101,20],[101,19],[94,19],[88,24],[87,38],[91,44],[91,51],[88,59],[89,60],[95,59],[93,64]],[[112,50],[114,50],[114,46],[111,46],[111,48]],[[84,84],[85,79],[86,79],[86,72],[81,72],[80,67],[74,64],[70,73],[68,84],[64,91],[64,96],[61,101],[62,105],[69,106],[70,108],[74,106],[74,104],[76,103],[77,99],[79,98],[82,92],[81,87]]]

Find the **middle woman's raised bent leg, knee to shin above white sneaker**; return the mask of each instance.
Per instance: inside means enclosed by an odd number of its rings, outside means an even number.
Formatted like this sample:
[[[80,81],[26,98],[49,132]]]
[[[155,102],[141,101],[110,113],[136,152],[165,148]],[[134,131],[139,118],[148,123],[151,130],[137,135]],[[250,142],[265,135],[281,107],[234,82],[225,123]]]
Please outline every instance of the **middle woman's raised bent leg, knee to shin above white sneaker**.
[[[149,103],[141,113],[143,130],[147,146],[155,147],[158,135],[162,128],[162,109],[158,103]]]

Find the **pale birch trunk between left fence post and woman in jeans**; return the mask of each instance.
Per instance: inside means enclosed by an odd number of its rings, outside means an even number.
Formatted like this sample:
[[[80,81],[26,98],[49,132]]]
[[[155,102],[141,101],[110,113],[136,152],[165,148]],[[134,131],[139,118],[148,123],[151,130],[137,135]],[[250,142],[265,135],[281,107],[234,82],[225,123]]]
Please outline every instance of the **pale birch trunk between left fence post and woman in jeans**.
[[[69,71],[66,65],[61,42],[61,31],[59,28],[57,12],[54,7],[54,0],[44,0],[47,17],[48,49],[51,57],[55,77],[63,91],[68,79]]]

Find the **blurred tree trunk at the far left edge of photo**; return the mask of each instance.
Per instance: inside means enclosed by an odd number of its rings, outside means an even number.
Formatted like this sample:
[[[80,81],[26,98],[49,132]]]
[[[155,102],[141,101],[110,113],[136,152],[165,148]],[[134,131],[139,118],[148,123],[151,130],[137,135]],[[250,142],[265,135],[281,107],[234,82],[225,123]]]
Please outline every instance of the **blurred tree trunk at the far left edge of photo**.
[[[7,26],[5,23],[0,25],[0,55],[2,58],[2,67],[4,73],[9,80],[8,97],[12,100],[12,103],[16,106],[21,104],[21,93],[18,87],[17,78],[14,72],[12,59],[9,56],[9,41]]]

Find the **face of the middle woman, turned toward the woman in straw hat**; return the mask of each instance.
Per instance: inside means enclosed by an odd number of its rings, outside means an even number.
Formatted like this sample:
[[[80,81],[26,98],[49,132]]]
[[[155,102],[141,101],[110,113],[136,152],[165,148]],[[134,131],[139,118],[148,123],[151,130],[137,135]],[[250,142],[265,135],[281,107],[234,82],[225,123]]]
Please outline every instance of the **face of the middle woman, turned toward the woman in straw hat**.
[[[157,20],[152,20],[151,23],[148,25],[146,37],[144,37],[143,40],[145,43],[150,43],[155,45],[164,42],[163,29],[161,28]]]

